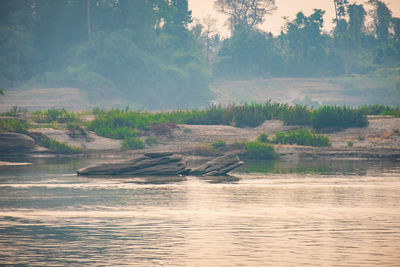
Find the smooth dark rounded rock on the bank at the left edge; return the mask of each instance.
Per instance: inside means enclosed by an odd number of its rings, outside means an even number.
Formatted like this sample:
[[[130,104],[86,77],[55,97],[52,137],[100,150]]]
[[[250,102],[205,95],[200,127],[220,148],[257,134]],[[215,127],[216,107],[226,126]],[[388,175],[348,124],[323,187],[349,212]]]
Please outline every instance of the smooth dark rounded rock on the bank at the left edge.
[[[20,154],[30,151],[35,146],[33,138],[20,133],[0,133],[0,153]]]

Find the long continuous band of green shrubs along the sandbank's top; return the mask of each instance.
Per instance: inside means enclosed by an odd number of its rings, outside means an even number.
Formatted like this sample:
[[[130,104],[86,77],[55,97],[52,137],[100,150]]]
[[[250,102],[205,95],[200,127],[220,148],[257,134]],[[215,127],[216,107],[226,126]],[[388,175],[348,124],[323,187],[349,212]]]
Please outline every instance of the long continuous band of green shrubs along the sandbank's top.
[[[100,136],[114,139],[135,138],[139,131],[168,135],[171,129],[178,128],[176,124],[257,127],[265,120],[274,119],[283,120],[289,125],[309,125],[315,129],[349,128],[368,125],[366,115],[380,115],[389,112],[396,115],[398,114],[396,111],[398,111],[396,108],[376,105],[360,108],[322,106],[313,110],[301,105],[290,106],[269,101],[263,104],[211,106],[205,110],[157,113],[129,109],[109,111],[96,109],[97,117],[89,122],[87,127]],[[300,133],[309,134],[312,139],[320,138],[320,136],[306,131],[300,131]],[[264,136],[259,141],[267,142],[266,140],[268,137]]]

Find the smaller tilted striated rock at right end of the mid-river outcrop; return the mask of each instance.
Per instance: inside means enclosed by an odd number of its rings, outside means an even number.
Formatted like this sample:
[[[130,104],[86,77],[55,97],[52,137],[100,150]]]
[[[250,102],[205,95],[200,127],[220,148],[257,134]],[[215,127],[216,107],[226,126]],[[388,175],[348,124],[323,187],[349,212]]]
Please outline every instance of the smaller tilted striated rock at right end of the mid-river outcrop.
[[[228,154],[208,161],[197,168],[190,170],[190,175],[220,176],[226,175],[231,170],[243,165],[236,154]]]

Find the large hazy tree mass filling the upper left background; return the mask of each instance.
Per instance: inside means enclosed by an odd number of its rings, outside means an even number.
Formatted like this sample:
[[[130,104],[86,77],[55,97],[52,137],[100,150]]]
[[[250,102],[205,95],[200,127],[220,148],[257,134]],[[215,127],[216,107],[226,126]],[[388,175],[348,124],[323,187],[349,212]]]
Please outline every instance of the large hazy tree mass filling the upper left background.
[[[147,108],[205,105],[187,0],[3,0],[0,87],[78,87]]]

